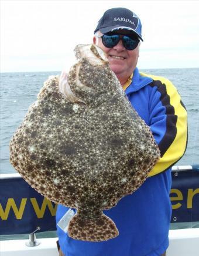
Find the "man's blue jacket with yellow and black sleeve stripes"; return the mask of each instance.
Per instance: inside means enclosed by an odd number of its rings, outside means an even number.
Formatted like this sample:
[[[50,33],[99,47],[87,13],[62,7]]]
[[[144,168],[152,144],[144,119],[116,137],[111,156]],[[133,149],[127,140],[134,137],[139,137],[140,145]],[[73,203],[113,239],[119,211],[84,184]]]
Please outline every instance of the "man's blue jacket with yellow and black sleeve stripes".
[[[161,158],[135,193],[104,211],[118,227],[118,237],[104,242],[78,241],[57,226],[60,247],[66,256],[158,256],[169,245],[170,167],[186,150],[187,112],[169,80],[139,73],[137,68],[132,77],[123,89],[152,130]],[[57,222],[67,210],[58,206]]]

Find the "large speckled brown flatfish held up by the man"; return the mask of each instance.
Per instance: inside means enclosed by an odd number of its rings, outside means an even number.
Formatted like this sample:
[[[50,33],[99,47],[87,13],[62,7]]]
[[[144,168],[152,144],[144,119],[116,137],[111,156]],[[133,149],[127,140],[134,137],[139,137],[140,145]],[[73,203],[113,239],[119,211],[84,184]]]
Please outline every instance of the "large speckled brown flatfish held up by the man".
[[[29,107],[10,159],[44,197],[77,209],[70,237],[104,241],[118,229],[102,210],[137,190],[160,152],[105,53],[95,45],[78,45],[75,53],[65,83],[50,77]]]

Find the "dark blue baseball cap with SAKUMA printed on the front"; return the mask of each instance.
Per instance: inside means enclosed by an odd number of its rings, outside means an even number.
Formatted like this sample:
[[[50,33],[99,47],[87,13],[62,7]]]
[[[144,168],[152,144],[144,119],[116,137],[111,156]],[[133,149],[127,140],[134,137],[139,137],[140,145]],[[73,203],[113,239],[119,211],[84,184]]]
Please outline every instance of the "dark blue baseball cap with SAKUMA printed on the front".
[[[142,24],[138,16],[126,8],[112,8],[105,11],[104,15],[98,21],[97,28],[102,33],[117,31],[119,29],[132,32],[142,41]]]

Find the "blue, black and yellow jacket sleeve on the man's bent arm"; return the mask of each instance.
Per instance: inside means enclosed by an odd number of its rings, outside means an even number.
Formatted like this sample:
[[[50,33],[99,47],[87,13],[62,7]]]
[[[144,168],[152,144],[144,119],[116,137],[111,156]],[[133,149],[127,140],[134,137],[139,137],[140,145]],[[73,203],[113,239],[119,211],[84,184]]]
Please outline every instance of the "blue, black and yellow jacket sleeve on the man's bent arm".
[[[173,166],[187,147],[187,111],[176,87],[165,78],[152,76],[152,79],[149,123],[161,157],[149,177]]]

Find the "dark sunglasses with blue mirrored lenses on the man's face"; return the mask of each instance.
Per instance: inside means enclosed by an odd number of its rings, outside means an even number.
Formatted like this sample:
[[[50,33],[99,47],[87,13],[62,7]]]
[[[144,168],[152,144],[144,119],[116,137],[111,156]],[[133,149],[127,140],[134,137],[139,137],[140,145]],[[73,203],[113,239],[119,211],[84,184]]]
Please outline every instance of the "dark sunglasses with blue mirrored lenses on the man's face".
[[[139,43],[139,39],[138,38],[131,38],[130,36],[127,35],[102,35],[102,36],[98,36],[98,38],[102,39],[102,43],[105,47],[107,48],[112,48],[115,45],[118,44],[119,40],[122,40],[123,46],[127,49],[127,50],[134,50]]]

